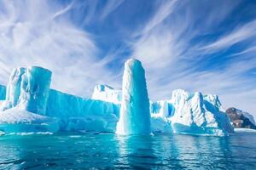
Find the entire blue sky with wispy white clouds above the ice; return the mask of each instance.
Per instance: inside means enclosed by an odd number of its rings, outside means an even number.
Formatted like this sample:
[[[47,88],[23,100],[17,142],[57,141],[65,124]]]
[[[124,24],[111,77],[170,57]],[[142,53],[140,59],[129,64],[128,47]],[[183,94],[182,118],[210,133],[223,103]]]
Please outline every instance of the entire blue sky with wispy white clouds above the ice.
[[[53,72],[51,88],[90,98],[121,88],[126,59],[143,62],[151,100],[172,90],[218,94],[256,116],[256,2],[0,1],[0,83],[15,67]]]

